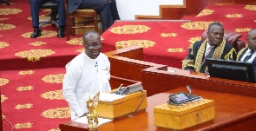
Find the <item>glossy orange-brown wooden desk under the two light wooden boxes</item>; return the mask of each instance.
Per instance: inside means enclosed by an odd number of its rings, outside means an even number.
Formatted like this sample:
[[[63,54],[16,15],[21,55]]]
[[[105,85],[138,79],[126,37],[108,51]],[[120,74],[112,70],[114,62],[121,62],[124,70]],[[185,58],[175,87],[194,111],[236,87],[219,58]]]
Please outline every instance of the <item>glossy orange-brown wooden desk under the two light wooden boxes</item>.
[[[223,87],[225,88],[225,87]],[[203,98],[214,100],[216,117],[213,121],[188,130],[254,130],[256,122],[256,97],[233,95],[193,88],[194,94]],[[168,95],[180,91],[187,92],[187,88],[175,88],[165,93],[148,97],[146,112],[136,114],[134,117],[124,117],[102,124],[99,131],[163,131],[163,128],[154,126],[154,107],[166,103]],[[62,131],[84,131],[87,125],[69,121],[60,124]]]

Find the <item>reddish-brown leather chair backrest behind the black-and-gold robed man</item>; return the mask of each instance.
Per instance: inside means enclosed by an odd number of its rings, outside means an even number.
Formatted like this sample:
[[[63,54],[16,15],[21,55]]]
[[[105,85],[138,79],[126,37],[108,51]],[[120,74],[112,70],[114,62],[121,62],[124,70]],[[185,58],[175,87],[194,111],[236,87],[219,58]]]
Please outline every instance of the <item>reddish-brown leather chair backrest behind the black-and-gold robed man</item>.
[[[201,40],[207,39],[207,32],[208,30],[205,30],[201,36]],[[233,48],[239,52],[240,49],[243,49],[246,47],[246,43],[244,43],[242,40],[239,40],[239,38],[242,36],[240,33],[233,32],[231,30],[224,30],[224,39],[226,39],[226,42],[231,43],[233,45]]]

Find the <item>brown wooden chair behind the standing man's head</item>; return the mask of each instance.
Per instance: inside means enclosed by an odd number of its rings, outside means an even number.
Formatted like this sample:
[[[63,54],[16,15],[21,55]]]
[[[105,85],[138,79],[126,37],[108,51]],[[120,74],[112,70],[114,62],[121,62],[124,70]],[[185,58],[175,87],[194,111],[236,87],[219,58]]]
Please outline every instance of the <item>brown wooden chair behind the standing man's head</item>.
[[[93,28],[98,30],[97,12],[95,10],[75,10],[69,14],[68,0],[63,0],[66,13],[66,36],[69,41],[69,36],[75,36],[75,29]]]

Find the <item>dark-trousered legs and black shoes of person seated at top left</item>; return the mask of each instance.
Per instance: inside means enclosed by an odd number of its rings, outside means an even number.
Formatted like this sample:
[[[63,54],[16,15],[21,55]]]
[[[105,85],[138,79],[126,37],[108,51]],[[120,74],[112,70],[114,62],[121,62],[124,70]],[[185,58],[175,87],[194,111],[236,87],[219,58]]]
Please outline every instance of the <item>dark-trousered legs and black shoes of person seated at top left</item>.
[[[32,17],[32,26],[34,28],[33,34],[30,38],[36,38],[42,35],[42,30],[39,28],[39,10],[40,6],[43,3],[46,3],[49,0],[30,0],[30,13]],[[58,4],[58,13],[59,13],[59,29],[57,32],[57,37],[64,37],[64,27],[65,27],[65,7],[62,0],[55,0]]]

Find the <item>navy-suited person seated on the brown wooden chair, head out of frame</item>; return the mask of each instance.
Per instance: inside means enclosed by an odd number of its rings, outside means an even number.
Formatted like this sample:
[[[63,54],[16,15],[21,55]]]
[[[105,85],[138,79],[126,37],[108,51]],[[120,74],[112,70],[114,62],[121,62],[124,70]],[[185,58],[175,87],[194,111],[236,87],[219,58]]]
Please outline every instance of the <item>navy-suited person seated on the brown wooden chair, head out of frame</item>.
[[[101,12],[102,31],[106,31],[115,20],[120,20],[115,0],[69,0],[69,13],[77,9],[93,9]]]

